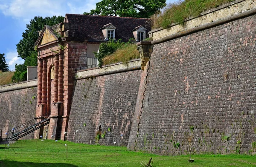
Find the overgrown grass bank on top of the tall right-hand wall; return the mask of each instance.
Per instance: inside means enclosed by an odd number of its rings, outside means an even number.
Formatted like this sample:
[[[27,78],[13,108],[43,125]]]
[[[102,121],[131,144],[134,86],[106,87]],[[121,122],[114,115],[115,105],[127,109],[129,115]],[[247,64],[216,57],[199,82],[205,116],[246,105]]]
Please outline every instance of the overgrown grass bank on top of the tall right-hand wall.
[[[151,17],[152,29],[167,28],[172,23],[183,24],[189,17],[197,17],[204,11],[232,1],[234,0],[184,0],[171,3],[163,12]]]

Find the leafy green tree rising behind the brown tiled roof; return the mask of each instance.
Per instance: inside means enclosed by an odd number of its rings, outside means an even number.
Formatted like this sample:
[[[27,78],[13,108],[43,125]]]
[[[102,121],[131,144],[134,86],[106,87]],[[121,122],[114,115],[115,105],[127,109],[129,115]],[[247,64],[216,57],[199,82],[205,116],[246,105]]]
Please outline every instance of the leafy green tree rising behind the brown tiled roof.
[[[88,15],[149,18],[166,6],[166,0],[102,0]]]

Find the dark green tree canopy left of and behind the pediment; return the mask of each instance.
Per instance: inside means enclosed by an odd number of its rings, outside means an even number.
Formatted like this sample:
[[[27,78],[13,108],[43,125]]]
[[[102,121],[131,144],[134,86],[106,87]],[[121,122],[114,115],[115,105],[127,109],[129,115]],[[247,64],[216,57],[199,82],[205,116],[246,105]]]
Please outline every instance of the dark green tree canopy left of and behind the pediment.
[[[25,32],[22,33],[22,39],[17,46],[18,56],[22,59],[26,59],[28,56],[35,54],[33,46],[38,38],[38,31],[44,28],[44,25],[53,26],[55,24],[63,22],[63,16],[53,17],[39,17],[35,16],[30,20],[30,23],[26,25]]]

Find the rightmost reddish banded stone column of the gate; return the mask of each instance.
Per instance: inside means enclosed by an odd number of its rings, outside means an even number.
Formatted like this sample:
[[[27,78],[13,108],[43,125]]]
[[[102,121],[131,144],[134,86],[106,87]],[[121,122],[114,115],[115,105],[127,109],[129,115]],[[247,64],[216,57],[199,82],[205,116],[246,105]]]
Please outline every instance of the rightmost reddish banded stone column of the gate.
[[[63,103],[63,55],[59,55],[59,69],[58,69],[58,103]]]

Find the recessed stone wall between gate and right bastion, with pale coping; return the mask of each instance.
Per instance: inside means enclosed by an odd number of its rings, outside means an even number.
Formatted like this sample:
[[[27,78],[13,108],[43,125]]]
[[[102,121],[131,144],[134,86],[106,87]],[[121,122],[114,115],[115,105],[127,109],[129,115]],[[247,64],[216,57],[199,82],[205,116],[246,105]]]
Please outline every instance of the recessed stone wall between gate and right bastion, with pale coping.
[[[69,141],[128,144],[140,85],[140,63],[117,63],[77,73],[67,130]]]

